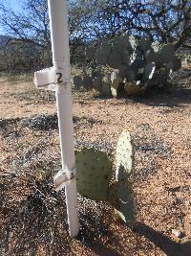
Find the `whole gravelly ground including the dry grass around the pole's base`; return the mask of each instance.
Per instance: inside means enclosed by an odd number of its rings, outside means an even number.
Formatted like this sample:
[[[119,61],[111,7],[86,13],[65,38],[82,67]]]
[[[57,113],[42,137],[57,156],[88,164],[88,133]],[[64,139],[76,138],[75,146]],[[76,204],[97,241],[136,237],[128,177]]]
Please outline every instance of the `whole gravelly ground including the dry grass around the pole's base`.
[[[67,233],[64,196],[52,189],[60,169],[54,99],[28,82],[1,78],[0,87],[1,174],[8,175],[1,175],[3,255],[190,255],[189,71],[181,70],[167,90],[142,97],[100,99],[94,92],[74,92],[77,144],[114,154],[120,131],[131,130],[138,211],[131,230],[107,204],[79,197],[76,239]],[[33,125],[42,113],[49,122]],[[173,228],[182,239],[172,235]]]

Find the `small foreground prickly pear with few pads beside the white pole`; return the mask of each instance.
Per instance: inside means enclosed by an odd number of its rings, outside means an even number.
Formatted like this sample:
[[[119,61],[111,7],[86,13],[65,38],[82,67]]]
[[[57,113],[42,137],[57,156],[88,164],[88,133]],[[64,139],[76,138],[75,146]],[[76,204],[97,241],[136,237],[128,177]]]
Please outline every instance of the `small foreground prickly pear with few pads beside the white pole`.
[[[124,130],[117,142],[117,180],[108,155],[93,149],[75,151],[77,192],[86,198],[109,202],[129,226],[136,217],[132,184],[133,152],[130,134]]]

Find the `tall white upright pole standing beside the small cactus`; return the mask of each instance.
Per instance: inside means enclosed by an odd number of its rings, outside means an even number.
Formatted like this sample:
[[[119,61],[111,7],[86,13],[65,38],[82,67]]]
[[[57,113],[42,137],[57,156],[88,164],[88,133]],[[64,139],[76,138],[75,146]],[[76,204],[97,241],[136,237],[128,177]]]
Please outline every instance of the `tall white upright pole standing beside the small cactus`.
[[[61,145],[62,169],[72,172],[75,167],[71,66],[66,0],[48,0],[53,67],[57,74],[56,105]],[[66,185],[66,203],[71,236],[78,233],[76,180]]]

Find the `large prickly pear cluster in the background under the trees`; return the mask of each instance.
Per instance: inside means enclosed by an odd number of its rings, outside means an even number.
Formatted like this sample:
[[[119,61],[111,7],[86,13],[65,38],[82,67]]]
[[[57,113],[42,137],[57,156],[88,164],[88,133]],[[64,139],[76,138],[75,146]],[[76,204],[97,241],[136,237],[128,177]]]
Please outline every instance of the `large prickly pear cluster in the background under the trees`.
[[[88,78],[74,77],[74,85],[93,86],[101,94],[114,97],[138,94],[164,84],[181,65],[173,44],[159,45],[127,35],[89,47],[85,54],[96,69]]]

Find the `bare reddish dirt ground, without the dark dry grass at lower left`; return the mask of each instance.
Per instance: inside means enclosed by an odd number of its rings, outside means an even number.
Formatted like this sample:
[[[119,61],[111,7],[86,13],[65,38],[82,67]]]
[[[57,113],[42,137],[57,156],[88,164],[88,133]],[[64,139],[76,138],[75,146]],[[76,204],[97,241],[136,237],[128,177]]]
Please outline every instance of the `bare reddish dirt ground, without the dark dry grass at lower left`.
[[[105,99],[93,91],[74,91],[73,98],[76,144],[115,153],[120,132],[131,131],[137,224],[131,230],[104,203],[86,202],[90,220],[81,210],[87,222],[81,221],[76,239],[55,241],[50,253],[46,244],[33,244],[33,250],[8,248],[5,255],[191,255],[191,72],[180,70],[168,88],[145,96]],[[59,170],[55,111],[53,93],[37,91],[32,82],[0,78],[1,172],[44,165]],[[35,125],[42,114],[52,117],[50,128]],[[63,243],[62,249],[56,243]]]

